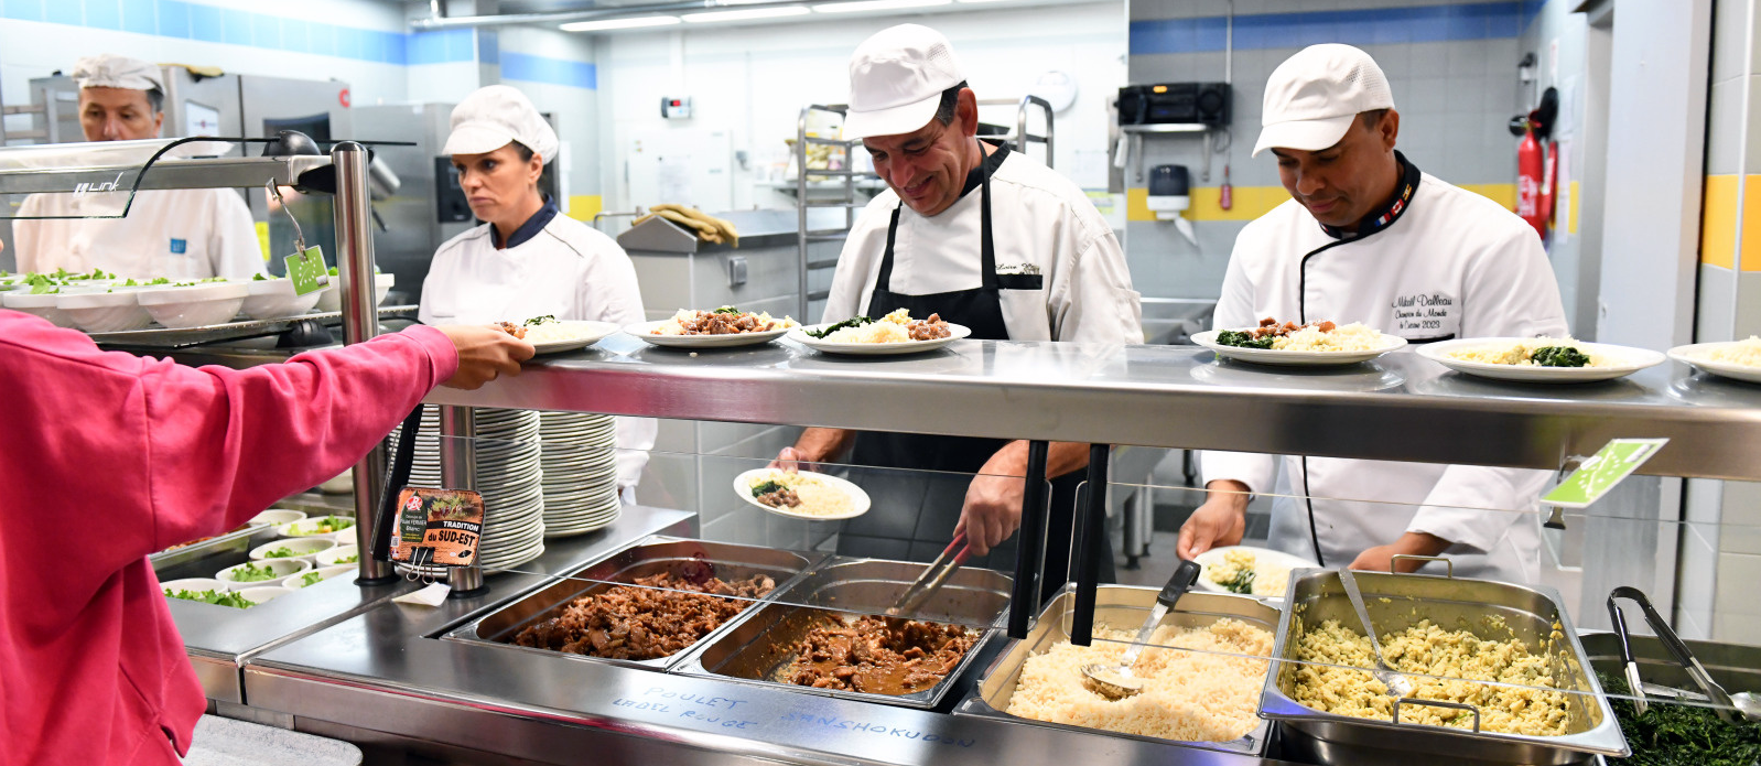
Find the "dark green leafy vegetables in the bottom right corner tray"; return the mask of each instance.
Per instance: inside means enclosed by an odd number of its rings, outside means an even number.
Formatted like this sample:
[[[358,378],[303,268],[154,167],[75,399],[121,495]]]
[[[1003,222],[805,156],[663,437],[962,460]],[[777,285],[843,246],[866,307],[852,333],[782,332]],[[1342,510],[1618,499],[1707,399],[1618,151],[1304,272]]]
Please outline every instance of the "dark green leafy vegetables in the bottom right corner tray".
[[[1597,673],[1603,689],[1620,694],[1625,680]],[[1632,711],[1631,699],[1610,699],[1620,731],[1627,734],[1632,757],[1608,759],[1610,764],[1632,766],[1752,766],[1761,759],[1761,722],[1742,720],[1726,724],[1712,708],[1694,704],[1652,703],[1643,715]]]

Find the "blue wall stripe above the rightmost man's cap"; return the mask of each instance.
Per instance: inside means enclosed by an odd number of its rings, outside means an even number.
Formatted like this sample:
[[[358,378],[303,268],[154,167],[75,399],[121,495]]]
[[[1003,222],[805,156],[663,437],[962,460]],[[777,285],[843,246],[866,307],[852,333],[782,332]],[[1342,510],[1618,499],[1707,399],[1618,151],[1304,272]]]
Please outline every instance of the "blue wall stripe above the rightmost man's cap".
[[[1374,11],[1314,11],[1234,18],[1234,48],[1305,48],[1317,42],[1352,46],[1485,41],[1516,37],[1544,2],[1485,2]],[[1131,23],[1131,55],[1222,51],[1222,16]]]

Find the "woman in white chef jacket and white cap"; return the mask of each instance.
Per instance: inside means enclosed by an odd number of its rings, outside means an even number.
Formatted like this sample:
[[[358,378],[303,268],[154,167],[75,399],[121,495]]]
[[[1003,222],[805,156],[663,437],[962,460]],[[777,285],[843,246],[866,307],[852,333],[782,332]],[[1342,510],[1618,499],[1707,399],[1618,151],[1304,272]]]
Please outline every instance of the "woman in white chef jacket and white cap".
[[[560,215],[539,192],[556,132],[507,85],[479,88],[453,107],[444,155],[453,157],[472,215],[486,224],[435,252],[423,282],[423,324],[564,320],[634,324],[645,319],[636,266],[613,241]],[[618,486],[629,500],[659,426],[618,417]]]

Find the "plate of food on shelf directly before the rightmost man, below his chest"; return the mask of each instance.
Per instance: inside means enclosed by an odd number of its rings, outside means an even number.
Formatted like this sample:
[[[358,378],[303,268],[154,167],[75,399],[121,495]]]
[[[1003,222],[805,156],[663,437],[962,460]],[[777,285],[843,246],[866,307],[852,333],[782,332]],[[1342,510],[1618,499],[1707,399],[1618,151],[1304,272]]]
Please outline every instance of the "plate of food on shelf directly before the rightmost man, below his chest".
[[[1405,338],[1382,335],[1359,322],[1278,322],[1261,319],[1249,329],[1206,329],[1192,336],[1220,357],[1256,365],[1326,366],[1370,361],[1407,345]]]

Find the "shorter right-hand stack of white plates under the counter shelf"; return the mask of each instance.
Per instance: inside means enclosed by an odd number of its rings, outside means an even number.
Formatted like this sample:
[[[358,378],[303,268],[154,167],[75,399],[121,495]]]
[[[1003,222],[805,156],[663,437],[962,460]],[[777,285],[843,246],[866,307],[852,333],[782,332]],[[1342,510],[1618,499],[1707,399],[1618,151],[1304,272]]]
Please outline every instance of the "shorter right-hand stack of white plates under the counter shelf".
[[[618,519],[618,435],[609,416],[542,412],[544,537]]]

